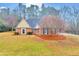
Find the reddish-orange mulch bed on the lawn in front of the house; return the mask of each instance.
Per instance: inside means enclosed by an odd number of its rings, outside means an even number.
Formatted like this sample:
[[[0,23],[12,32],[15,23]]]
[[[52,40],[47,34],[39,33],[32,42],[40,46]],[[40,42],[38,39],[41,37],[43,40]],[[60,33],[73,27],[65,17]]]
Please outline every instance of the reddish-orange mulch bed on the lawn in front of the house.
[[[44,40],[64,40],[66,39],[63,35],[53,34],[53,35],[36,35]]]

